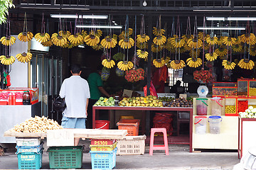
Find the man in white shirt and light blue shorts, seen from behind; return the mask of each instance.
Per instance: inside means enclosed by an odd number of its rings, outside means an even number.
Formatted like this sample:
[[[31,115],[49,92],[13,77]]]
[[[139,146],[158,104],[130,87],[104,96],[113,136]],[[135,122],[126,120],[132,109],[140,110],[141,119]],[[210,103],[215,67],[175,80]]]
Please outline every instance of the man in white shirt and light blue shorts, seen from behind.
[[[80,77],[81,69],[74,64],[70,70],[72,76],[63,81],[60,87],[60,98],[65,98],[66,108],[63,111],[61,125],[63,128],[84,128],[87,118],[87,107],[90,89],[87,81]],[[80,138],[75,138],[74,145],[78,146]]]

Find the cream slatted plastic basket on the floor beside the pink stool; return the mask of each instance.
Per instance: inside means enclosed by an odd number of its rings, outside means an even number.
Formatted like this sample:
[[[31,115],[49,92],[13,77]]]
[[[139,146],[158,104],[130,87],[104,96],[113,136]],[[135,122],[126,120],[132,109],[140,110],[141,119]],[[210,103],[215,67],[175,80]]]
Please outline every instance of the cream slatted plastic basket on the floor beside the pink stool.
[[[126,136],[124,140],[117,140],[118,155],[144,154],[146,135]]]

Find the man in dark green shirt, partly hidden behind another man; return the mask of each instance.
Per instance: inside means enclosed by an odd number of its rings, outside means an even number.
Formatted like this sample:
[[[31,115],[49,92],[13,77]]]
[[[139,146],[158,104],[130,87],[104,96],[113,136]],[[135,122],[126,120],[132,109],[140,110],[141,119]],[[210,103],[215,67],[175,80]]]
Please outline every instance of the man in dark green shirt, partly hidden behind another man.
[[[99,100],[101,96],[110,97],[110,94],[105,91],[102,87],[102,79],[100,77],[102,70],[98,68],[97,72],[92,72],[87,78],[89,88],[90,88],[90,99],[88,106],[88,115],[87,115],[87,129],[92,129],[92,106]]]

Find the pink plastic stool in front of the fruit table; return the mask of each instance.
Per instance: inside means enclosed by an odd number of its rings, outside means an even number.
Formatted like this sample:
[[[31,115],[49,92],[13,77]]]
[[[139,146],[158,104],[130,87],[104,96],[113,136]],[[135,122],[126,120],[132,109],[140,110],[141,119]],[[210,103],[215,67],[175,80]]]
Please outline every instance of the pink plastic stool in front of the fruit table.
[[[154,145],[154,133],[155,132],[162,132],[164,134],[164,145]],[[169,147],[168,147],[166,128],[151,128],[149,155],[153,155],[153,150],[165,150],[166,155],[169,155]]]

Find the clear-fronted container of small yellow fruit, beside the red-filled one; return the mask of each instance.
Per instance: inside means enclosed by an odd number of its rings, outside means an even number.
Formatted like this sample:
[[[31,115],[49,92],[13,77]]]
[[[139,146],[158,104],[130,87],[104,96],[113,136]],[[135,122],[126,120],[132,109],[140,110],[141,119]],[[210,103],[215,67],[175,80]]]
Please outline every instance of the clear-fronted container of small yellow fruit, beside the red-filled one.
[[[237,105],[236,105],[237,98],[233,97],[226,97],[225,98],[225,115],[227,116],[234,116],[238,115],[236,110],[237,110]]]

